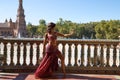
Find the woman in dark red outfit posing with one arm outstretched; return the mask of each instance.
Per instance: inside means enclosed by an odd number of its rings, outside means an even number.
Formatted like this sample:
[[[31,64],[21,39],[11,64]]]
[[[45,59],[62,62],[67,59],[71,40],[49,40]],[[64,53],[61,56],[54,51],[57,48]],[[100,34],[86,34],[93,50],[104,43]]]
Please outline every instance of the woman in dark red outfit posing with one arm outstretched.
[[[45,34],[45,39],[43,41],[44,58],[42,59],[39,67],[35,72],[35,78],[52,76],[52,73],[58,68],[58,58],[60,58],[61,60],[61,67],[64,73],[64,77],[66,75],[64,56],[57,48],[57,36],[68,37],[72,35],[73,32],[71,32],[70,34],[61,34],[55,32],[55,26],[56,24],[52,22],[48,24],[47,33]]]

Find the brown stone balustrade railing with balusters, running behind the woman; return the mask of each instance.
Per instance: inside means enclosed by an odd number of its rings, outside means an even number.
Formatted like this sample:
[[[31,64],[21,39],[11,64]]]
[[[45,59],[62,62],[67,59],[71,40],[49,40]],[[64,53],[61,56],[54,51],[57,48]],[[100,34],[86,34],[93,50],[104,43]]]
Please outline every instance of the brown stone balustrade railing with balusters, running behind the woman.
[[[34,72],[43,56],[42,43],[42,39],[0,39],[0,69]],[[58,48],[65,56],[66,72],[120,74],[120,40],[58,40]]]

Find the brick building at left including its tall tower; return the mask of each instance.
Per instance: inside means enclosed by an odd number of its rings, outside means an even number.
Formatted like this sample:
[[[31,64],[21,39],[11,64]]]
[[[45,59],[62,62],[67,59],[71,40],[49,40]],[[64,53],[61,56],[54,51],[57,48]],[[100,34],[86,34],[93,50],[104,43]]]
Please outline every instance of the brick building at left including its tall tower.
[[[16,22],[12,19],[5,20],[0,23],[0,36],[4,37],[26,37],[26,21],[23,9],[23,1],[19,0],[19,7],[17,10]]]

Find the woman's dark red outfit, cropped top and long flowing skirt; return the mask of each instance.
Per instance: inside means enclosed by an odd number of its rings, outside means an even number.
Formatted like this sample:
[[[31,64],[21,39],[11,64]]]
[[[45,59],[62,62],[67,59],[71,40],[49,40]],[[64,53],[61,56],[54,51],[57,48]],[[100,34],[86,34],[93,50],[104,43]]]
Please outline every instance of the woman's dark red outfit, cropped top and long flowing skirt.
[[[47,36],[48,40],[55,40],[56,35]],[[58,57],[57,54],[61,54],[56,46],[47,44],[46,54],[42,59],[39,67],[35,71],[35,77],[44,78],[51,76],[51,73],[58,69]]]

